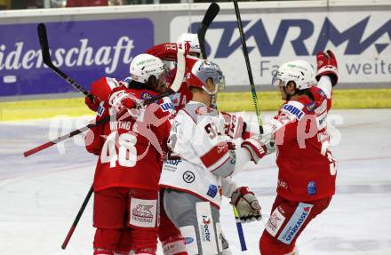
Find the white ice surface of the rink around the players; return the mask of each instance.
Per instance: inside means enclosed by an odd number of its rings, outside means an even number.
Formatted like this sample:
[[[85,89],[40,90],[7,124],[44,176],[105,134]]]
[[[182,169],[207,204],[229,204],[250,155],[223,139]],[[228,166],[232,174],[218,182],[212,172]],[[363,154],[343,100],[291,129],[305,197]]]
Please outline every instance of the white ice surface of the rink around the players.
[[[301,255],[391,254],[391,109],[333,110],[337,194],[299,238]],[[343,124],[340,122],[343,121]],[[95,156],[72,140],[24,158],[48,140],[50,121],[0,123],[0,254],[92,254],[92,201],[68,248],[60,248],[92,184]],[[80,140],[79,140],[80,141]],[[63,151],[63,150],[60,150]],[[258,195],[265,220],[275,197],[275,155],[235,175]],[[240,251],[232,207],[221,222],[234,254],[259,254],[261,222],[245,225]],[[158,254],[163,254],[159,251]]]

